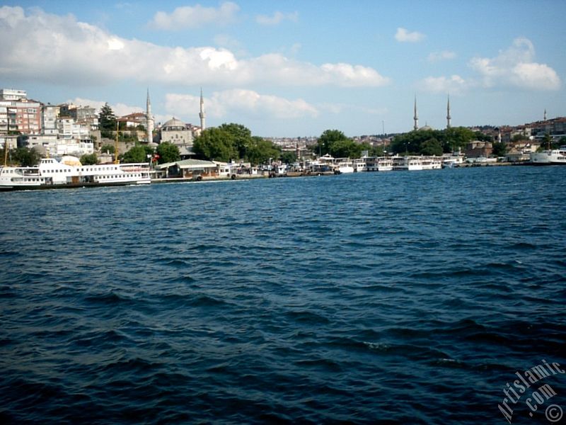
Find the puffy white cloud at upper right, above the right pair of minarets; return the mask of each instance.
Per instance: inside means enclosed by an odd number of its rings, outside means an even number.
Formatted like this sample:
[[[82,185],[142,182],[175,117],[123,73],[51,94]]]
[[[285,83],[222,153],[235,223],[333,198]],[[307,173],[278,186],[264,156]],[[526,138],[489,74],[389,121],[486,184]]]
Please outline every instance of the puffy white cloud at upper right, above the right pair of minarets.
[[[534,62],[535,48],[527,38],[516,38],[507,50],[492,58],[474,57],[470,67],[478,72],[483,86],[516,86],[532,90],[558,90],[560,77],[547,64]]]

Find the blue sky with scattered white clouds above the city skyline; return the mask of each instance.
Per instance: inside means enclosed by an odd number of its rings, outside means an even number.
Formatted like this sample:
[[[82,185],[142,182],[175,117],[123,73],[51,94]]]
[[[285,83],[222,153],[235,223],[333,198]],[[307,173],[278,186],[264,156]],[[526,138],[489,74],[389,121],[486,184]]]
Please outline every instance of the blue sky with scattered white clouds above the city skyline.
[[[566,1],[4,1],[0,86],[260,136],[566,115]]]

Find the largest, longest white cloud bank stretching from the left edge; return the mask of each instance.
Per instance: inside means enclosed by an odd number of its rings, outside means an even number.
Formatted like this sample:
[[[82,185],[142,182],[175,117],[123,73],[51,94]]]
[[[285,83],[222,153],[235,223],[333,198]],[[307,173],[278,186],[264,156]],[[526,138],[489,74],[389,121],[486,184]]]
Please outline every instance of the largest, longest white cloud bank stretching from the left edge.
[[[232,87],[258,82],[349,87],[389,83],[375,69],[362,65],[318,66],[276,53],[240,60],[226,48],[164,47],[120,38],[71,15],[39,9],[25,15],[21,7],[0,8],[0,40],[0,78],[20,81],[100,85],[134,80]]]

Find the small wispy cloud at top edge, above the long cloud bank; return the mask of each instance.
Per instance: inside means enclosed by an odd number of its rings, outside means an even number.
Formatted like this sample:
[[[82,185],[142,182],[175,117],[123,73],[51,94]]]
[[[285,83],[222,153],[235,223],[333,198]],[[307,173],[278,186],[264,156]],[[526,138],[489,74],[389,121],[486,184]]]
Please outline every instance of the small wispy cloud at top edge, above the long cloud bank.
[[[183,30],[211,24],[226,25],[236,21],[239,10],[240,6],[231,1],[225,1],[218,8],[200,4],[180,6],[171,13],[158,11],[149,26],[158,30]]]

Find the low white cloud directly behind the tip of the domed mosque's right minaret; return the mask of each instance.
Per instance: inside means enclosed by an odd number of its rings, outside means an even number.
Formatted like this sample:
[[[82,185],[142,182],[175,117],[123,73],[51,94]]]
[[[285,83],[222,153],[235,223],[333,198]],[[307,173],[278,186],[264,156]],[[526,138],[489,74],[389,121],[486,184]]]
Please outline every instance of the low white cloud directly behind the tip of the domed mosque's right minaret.
[[[315,118],[318,115],[318,110],[301,98],[289,100],[245,89],[215,91],[209,98],[204,98],[204,107],[207,115],[212,118],[236,114],[265,119],[294,119],[304,116]],[[194,116],[196,120],[199,108],[199,96],[166,95],[166,111],[169,113]]]

